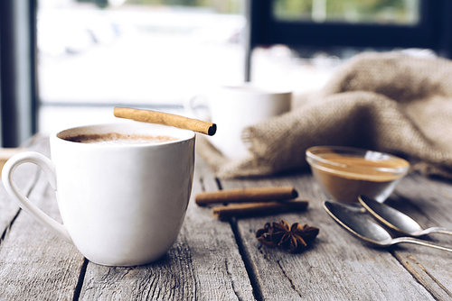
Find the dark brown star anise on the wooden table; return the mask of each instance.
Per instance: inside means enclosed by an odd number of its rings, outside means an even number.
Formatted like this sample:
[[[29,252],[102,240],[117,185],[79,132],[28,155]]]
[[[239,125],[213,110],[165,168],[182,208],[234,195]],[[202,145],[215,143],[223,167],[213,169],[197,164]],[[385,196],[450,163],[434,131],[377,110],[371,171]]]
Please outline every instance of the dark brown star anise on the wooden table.
[[[290,225],[284,220],[281,223],[266,223],[264,228],[259,229],[256,237],[270,247],[279,246],[291,253],[303,251],[307,243],[314,241],[319,232],[318,228],[310,227],[307,224],[300,225],[293,223]]]

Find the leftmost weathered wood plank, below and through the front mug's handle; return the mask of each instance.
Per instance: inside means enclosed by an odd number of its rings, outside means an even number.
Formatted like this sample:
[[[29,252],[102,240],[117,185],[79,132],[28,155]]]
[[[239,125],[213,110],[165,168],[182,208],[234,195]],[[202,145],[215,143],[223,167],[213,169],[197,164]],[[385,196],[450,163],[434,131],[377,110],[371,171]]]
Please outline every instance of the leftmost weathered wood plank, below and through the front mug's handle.
[[[44,144],[48,146],[48,141]],[[49,155],[48,147],[42,149],[40,145],[38,150]],[[43,172],[29,197],[46,214],[61,221],[56,196]],[[72,300],[83,262],[74,246],[21,211],[0,244],[0,299]]]

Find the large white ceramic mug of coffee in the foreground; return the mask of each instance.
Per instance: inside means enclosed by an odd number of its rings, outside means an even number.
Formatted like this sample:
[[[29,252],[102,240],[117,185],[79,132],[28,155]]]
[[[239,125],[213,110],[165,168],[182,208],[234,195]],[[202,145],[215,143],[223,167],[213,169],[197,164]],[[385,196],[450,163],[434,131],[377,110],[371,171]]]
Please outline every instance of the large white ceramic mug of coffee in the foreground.
[[[79,134],[118,132],[167,135],[176,141],[99,145],[64,140]],[[52,134],[52,160],[37,152],[15,155],[2,173],[6,191],[90,261],[135,266],[158,260],[184,222],[193,183],[192,131],[151,123],[114,123]],[[14,169],[37,164],[57,194],[63,224],[44,214],[14,183]]]

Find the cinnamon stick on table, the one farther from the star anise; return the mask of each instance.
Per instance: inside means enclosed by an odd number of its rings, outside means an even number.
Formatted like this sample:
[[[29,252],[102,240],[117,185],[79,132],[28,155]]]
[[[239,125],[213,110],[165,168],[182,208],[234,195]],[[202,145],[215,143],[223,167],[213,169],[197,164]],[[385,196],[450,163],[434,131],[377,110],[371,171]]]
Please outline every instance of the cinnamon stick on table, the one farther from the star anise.
[[[298,196],[294,187],[255,187],[203,192],[195,196],[197,205],[215,203],[256,203],[287,201]]]

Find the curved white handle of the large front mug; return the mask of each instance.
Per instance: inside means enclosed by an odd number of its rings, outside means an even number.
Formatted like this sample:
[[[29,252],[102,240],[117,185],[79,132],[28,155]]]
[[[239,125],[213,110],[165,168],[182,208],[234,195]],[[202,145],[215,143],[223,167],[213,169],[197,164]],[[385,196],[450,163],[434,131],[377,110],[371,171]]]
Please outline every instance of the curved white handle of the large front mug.
[[[19,206],[24,209],[27,214],[32,215],[38,222],[42,223],[53,233],[59,235],[65,242],[72,243],[71,236],[61,223],[52,219],[49,215],[44,214],[41,209],[34,205],[28,197],[24,196],[22,191],[17,187],[14,181],[14,170],[21,164],[30,162],[40,167],[47,176],[53,190],[56,191],[55,168],[52,160],[35,151],[25,151],[18,153],[6,161],[2,170],[2,181],[6,192],[14,198]]]

